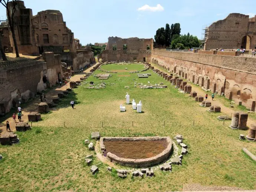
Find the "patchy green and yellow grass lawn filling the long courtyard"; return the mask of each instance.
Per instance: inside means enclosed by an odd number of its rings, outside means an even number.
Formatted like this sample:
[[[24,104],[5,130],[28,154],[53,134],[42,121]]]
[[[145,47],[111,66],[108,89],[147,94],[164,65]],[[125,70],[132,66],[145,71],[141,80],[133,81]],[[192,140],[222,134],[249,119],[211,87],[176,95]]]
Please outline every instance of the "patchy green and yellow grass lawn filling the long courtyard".
[[[138,64],[108,64],[102,69],[114,71],[125,67],[132,71],[144,69]],[[135,73],[120,72],[102,81],[89,77],[87,82],[105,82],[106,88],[86,89],[88,84],[83,82],[62,99],[56,110],[42,115],[42,121],[33,123],[32,130],[18,132],[18,145],[0,146],[0,154],[4,156],[0,160],[1,190],[182,191],[183,184],[187,183],[256,189],[256,163],[242,152],[246,147],[256,154],[255,143],[238,139],[240,134],[247,135],[247,131],[230,129],[230,121],[225,121],[223,126],[223,122],[216,118],[223,113],[206,112],[205,107],[199,107],[188,94],[178,93],[152,70],[145,73],[152,76],[139,79]],[[139,89],[134,87],[135,81],[137,85],[145,85],[148,81],[152,84],[164,82],[168,88]],[[125,86],[131,89],[125,89]],[[126,92],[130,100],[142,101],[144,113],[136,113],[132,105],[125,104]],[[69,104],[71,99],[75,100],[74,110]],[[126,112],[119,112],[121,103],[126,106]],[[106,171],[108,165],[105,163],[101,163],[99,172],[92,175],[90,166],[84,162],[85,156],[93,154],[91,165],[101,161],[95,152],[88,150],[84,140],[95,131],[101,136],[173,138],[181,134],[189,153],[184,156],[182,166],[173,165],[172,172],[155,169],[155,177],[151,179],[131,178],[131,175],[126,179],[118,178]]]

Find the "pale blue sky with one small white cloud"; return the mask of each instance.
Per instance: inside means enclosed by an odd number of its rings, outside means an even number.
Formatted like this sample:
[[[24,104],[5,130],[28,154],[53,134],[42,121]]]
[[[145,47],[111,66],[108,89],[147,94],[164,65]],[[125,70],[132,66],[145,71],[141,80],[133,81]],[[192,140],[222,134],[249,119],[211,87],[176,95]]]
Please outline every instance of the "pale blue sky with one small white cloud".
[[[24,0],[33,15],[47,9],[60,10],[75,38],[87,43],[107,42],[109,36],[154,38],[166,23],[180,23],[181,33],[201,38],[205,24],[229,13],[255,14],[248,0]],[[75,3],[72,3],[75,2]],[[158,5],[160,4],[160,5]],[[145,6],[148,5],[148,6]],[[141,8],[141,9],[140,9]],[[5,9],[0,5],[0,17]],[[250,16],[251,17],[251,16]]]

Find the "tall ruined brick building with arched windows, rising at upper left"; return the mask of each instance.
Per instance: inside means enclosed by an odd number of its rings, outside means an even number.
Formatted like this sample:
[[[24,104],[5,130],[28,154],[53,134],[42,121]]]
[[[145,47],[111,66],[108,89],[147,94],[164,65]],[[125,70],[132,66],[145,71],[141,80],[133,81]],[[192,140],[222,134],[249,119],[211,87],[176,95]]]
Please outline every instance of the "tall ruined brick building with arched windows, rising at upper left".
[[[13,9],[12,1],[8,3],[8,7],[10,10]],[[90,64],[90,61],[93,62],[93,53],[87,53],[87,51],[84,54],[86,58],[83,59],[86,62],[79,63],[77,49],[81,48],[81,44],[66,26],[60,11],[45,10],[33,16],[32,9],[26,8],[24,1],[17,0],[14,18],[19,53],[37,56],[44,52],[54,52],[60,54],[62,62],[67,62],[74,71],[78,71],[79,66],[85,67]],[[7,26],[0,26],[0,33],[4,39],[3,46],[15,53],[12,32],[10,30],[6,32],[6,30],[8,30]]]

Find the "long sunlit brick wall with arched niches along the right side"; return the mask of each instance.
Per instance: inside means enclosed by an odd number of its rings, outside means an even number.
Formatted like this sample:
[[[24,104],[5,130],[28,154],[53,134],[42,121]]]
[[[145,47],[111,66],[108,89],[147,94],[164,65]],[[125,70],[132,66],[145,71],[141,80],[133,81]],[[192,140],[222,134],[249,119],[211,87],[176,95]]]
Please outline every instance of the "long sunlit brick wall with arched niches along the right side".
[[[227,98],[236,102],[242,100],[244,105],[248,99],[256,100],[255,58],[162,50],[151,53],[151,62],[211,92],[219,95],[224,92]]]

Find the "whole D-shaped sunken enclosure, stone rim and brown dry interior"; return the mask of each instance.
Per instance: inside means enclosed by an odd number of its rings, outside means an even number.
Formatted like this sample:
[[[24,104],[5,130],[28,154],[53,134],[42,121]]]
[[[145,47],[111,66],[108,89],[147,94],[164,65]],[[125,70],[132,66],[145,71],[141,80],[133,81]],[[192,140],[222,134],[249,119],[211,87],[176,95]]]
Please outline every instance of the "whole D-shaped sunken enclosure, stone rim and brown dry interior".
[[[111,153],[111,149],[108,149],[110,148],[109,146],[111,146],[109,145],[110,142],[112,142],[111,144],[112,146],[116,146],[116,148],[119,148],[119,150],[122,150],[123,148],[123,150],[120,151],[119,156],[117,156],[116,154],[113,154],[114,152]],[[131,158],[132,150],[127,149],[127,153],[128,153],[127,155],[124,154],[124,151],[126,147],[130,147],[133,142],[134,142],[133,148],[135,148],[135,150],[137,150],[137,153],[140,153],[140,155],[137,154],[135,155],[134,158]],[[140,143],[142,143],[142,145],[139,146],[138,144]],[[120,146],[117,146],[117,145],[122,145],[122,147],[120,148]],[[149,151],[146,154],[142,154],[143,152],[142,150],[140,150],[140,148],[143,148],[143,146],[148,148],[149,145],[150,146],[156,145],[156,147],[158,145],[159,153],[155,154],[157,151],[152,150],[152,152]],[[157,136],[155,137],[102,137],[100,139],[100,148],[104,156],[106,156],[111,162],[119,163],[122,166],[150,167],[163,162],[170,156],[172,152],[172,141],[170,137],[157,137]],[[116,150],[118,149],[115,149],[114,151]],[[126,156],[130,156],[130,158],[124,158]],[[150,156],[150,157],[139,158],[140,156]]]

